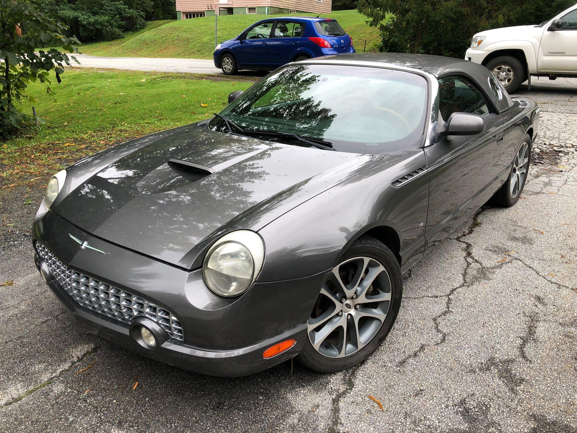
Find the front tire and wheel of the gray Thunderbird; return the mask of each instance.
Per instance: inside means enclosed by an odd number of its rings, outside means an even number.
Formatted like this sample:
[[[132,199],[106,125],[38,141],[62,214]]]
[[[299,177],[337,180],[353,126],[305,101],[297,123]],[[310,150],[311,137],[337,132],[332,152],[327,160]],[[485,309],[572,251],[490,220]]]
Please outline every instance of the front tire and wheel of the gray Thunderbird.
[[[324,373],[364,361],[395,323],[401,275],[398,260],[383,242],[369,236],[353,242],[320,288],[297,360]]]

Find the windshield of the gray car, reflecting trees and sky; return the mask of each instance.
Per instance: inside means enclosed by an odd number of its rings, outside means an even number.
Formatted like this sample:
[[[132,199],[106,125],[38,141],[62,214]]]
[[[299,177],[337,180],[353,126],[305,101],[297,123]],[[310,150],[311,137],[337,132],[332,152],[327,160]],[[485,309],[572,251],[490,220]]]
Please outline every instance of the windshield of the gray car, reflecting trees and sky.
[[[341,152],[380,154],[421,139],[427,89],[425,78],[410,72],[293,65],[259,81],[220,115],[253,135],[291,133],[322,140]],[[208,126],[228,132],[221,117]],[[264,138],[309,146],[286,137]]]

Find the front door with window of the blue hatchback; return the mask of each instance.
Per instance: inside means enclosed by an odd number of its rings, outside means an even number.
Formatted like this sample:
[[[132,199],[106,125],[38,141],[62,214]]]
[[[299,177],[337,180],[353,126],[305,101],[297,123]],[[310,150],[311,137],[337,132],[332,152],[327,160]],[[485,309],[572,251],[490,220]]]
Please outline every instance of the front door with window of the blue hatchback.
[[[269,68],[271,65],[268,43],[274,21],[264,21],[242,34],[237,46],[239,65],[244,68]]]

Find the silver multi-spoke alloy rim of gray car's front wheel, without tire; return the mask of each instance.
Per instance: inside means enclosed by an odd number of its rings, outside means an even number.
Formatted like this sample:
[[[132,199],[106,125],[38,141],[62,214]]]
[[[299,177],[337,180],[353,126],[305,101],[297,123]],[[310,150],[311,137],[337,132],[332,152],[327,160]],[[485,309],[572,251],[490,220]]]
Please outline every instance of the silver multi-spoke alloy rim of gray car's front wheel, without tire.
[[[308,320],[313,348],[330,358],[358,352],[381,329],[391,305],[391,279],[372,257],[335,266]]]

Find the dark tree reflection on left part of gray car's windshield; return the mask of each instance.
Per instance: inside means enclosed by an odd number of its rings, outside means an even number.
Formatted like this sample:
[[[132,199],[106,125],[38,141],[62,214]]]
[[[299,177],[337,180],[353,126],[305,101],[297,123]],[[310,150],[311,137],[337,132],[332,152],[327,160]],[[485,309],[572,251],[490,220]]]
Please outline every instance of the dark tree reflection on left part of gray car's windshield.
[[[321,108],[323,100],[320,97],[304,96],[321,80],[327,78],[313,74],[302,66],[285,68],[226,114],[234,114],[235,121],[241,126],[249,126],[250,123],[238,121],[237,116],[269,118],[274,124],[278,119],[283,121],[282,126],[288,126],[287,129],[295,133],[309,130],[306,135],[321,137],[331,126],[336,113],[329,108]]]

